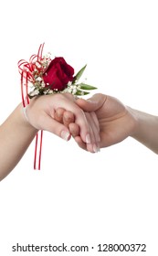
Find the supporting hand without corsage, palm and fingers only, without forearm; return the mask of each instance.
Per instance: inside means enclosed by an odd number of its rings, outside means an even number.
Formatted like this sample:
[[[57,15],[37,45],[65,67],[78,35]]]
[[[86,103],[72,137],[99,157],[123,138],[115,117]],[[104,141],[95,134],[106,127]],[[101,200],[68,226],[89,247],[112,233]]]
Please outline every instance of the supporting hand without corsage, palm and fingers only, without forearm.
[[[136,120],[131,109],[116,98],[99,93],[88,101],[79,99],[76,103],[84,112],[96,113],[100,124],[100,147],[120,143],[134,132]],[[73,135],[70,126],[69,130]],[[76,136],[75,140],[81,148],[86,149],[80,136]]]

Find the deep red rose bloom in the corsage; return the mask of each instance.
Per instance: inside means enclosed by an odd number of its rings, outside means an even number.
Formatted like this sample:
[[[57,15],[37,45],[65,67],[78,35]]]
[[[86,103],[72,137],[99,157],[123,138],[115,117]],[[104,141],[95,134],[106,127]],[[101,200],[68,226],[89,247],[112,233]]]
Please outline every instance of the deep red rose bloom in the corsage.
[[[74,69],[67,64],[64,58],[53,59],[43,74],[43,80],[50,90],[63,91],[68,81],[73,80]]]

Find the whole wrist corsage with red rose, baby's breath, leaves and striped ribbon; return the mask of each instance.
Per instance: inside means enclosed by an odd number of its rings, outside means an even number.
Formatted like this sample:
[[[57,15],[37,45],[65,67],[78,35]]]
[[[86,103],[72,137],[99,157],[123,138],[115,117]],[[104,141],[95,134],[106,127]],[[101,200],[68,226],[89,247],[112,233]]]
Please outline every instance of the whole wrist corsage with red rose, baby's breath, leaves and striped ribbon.
[[[62,57],[51,59],[51,54],[43,56],[44,44],[38,48],[37,54],[29,61],[18,61],[21,75],[21,95],[24,108],[30,99],[38,95],[69,92],[73,95],[83,96],[90,90],[97,89],[84,82],[79,82],[86,65],[75,75],[74,69]],[[40,170],[43,131],[36,136],[34,169]]]

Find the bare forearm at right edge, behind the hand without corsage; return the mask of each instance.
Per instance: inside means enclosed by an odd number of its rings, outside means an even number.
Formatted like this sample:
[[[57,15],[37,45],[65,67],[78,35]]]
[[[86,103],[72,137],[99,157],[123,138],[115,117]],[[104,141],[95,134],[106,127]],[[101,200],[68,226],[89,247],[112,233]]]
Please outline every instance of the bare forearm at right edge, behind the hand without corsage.
[[[158,117],[129,108],[135,118],[132,137],[158,154]]]

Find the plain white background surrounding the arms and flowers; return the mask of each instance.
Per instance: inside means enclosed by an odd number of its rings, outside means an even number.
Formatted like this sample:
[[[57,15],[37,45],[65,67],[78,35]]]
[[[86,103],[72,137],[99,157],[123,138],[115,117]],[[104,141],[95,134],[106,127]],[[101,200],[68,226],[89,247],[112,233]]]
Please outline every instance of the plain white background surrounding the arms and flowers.
[[[95,92],[158,114],[157,1],[5,0],[0,27],[0,123],[21,101],[17,61],[43,42],[45,53],[76,70],[87,63]],[[66,255],[122,255],[97,245],[145,243],[147,252],[123,255],[156,255],[157,155],[132,138],[91,155],[44,133],[42,168],[34,171],[34,145],[0,184],[0,255],[59,255],[12,252],[17,242],[95,248]]]

